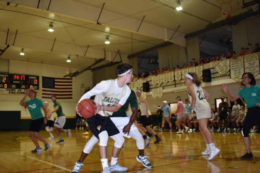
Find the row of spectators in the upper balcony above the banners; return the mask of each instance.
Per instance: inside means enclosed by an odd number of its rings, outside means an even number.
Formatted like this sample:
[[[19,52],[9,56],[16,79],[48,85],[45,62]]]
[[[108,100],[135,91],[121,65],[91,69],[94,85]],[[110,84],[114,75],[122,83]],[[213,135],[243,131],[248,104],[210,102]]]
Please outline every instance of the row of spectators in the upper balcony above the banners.
[[[253,49],[252,45],[249,43],[246,50],[245,50],[245,48],[240,49],[240,52],[239,52],[238,55],[236,54],[235,51],[233,51],[233,52],[227,52],[227,55],[222,53],[221,57],[219,57],[218,55],[212,55],[211,59],[210,58],[204,59],[204,57],[201,57],[200,60],[196,61],[193,58],[192,61],[188,63],[188,65],[186,63],[184,63],[181,67],[179,67],[179,65],[176,65],[176,67],[173,67],[172,69],[168,69],[168,67],[164,67],[164,68],[161,68],[161,70],[159,68],[157,68],[156,70],[153,69],[152,72],[145,71],[145,72],[142,73],[142,76],[141,76],[141,74],[138,74],[137,78],[138,79],[144,79],[147,76],[155,76],[157,74],[168,73],[168,72],[177,71],[177,70],[184,69],[184,68],[194,67],[194,66],[197,66],[197,65],[203,65],[203,64],[211,63],[211,62],[215,62],[215,61],[222,61],[222,60],[225,60],[225,59],[235,59],[239,56],[252,54],[252,53],[256,53],[256,52],[260,52],[259,44],[256,43],[255,49]],[[135,79],[136,79],[136,76],[134,75],[134,78],[133,78],[132,81],[134,81]]]

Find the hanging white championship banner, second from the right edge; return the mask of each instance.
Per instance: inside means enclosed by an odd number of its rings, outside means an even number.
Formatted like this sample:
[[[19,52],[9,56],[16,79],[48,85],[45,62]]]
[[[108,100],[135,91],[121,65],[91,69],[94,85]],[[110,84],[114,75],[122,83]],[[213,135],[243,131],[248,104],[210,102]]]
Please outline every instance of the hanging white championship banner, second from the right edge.
[[[235,81],[239,81],[243,73],[244,73],[243,57],[231,59],[230,78],[234,79]]]

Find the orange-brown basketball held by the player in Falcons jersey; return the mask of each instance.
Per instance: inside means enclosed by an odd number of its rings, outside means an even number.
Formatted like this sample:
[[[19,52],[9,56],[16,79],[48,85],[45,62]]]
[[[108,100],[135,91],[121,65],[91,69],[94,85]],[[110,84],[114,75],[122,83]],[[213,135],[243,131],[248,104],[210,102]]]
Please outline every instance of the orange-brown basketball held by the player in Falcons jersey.
[[[90,118],[95,114],[96,103],[91,99],[81,100],[78,104],[78,110],[81,116]]]

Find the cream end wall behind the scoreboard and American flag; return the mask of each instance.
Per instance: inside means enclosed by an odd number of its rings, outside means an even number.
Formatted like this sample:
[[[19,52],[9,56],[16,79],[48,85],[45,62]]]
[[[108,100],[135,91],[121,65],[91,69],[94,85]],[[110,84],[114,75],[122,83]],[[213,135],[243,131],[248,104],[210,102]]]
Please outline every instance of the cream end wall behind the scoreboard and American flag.
[[[26,75],[36,75],[39,76],[39,94],[37,98],[42,99],[42,76],[46,77],[57,77],[62,78],[66,75],[67,67],[57,66],[57,65],[49,65],[49,64],[41,64],[41,63],[32,63],[25,61],[16,61],[10,60],[9,65],[9,73],[10,74],[26,74]],[[78,69],[71,68],[71,71],[75,71]],[[84,87],[92,88],[92,72],[86,71],[83,74],[80,74],[77,77],[73,77],[73,99],[57,99],[62,106],[62,110],[67,117],[76,116],[75,106],[79,101],[81,95],[83,94],[81,89],[81,85]],[[21,118],[30,117],[28,109],[20,106],[20,101],[24,97],[24,95],[16,95],[16,94],[0,94],[0,110],[1,111],[21,111]],[[29,97],[28,97],[29,99]],[[53,110],[53,103],[51,99],[42,99],[42,101],[48,101]]]

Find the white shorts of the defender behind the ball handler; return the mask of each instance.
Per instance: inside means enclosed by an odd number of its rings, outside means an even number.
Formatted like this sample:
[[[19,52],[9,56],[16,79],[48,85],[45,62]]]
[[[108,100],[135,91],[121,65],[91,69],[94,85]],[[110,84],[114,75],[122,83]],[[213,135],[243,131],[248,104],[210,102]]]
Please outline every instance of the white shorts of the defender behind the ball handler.
[[[130,117],[110,117],[110,119],[116,125],[116,128],[119,130],[119,132],[122,136],[131,138],[131,136],[127,135],[127,133],[126,134],[123,133],[123,128],[129,123]],[[131,125],[130,131],[135,130],[135,129],[137,129],[137,127],[133,123]]]

